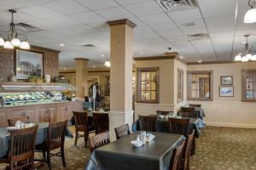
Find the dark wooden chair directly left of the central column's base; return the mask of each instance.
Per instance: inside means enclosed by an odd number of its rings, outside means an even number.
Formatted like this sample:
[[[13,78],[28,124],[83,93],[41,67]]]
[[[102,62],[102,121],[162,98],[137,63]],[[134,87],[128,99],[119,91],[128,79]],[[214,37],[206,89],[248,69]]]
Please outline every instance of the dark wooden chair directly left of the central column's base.
[[[109,130],[108,113],[93,113],[93,119],[96,127],[96,134]]]

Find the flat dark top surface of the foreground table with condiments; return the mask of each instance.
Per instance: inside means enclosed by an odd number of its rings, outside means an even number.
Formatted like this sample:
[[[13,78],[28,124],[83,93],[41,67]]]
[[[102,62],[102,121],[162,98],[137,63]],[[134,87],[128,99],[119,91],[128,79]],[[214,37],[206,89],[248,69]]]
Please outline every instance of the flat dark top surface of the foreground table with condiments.
[[[132,146],[131,141],[136,140],[139,133],[140,132],[132,133],[123,139],[104,145],[96,149],[96,152],[109,152],[111,154],[125,156],[142,156],[159,160],[168,150],[176,146],[179,139],[183,138],[183,136],[179,134],[150,132],[154,134],[155,138],[150,143],[143,144],[142,147],[136,148]]]

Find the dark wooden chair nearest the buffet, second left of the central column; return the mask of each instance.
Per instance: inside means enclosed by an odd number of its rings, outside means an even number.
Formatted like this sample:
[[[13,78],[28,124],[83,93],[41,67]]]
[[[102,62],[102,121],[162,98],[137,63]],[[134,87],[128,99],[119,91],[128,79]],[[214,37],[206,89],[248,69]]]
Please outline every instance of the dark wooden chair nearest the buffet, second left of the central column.
[[[90,133],[88,129],[87,112],[73,111],[73,117],[74,117],[75,128],[76,128],[74,145],[77,146],[78,139],[81,137],[84,137],[85,146],[87,146],[87,141]],[[79,134],[79,132],[83,132],[84,134]]]

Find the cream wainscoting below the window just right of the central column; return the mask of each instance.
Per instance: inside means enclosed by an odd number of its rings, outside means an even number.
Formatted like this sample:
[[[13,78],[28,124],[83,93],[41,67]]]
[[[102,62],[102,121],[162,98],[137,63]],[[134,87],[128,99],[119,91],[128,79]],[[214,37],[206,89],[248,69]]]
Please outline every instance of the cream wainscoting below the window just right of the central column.
[[[174,111],[174,105],[135,103],[135,120],[139,115],[154,115],[156,111]]]

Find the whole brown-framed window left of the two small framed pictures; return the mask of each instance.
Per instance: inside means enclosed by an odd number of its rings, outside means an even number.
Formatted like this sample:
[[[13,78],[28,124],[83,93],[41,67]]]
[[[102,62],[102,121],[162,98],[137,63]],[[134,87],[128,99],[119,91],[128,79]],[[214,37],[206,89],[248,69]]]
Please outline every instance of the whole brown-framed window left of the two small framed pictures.
[[[188,71],[188,99],[212,100],[212,71]]]

